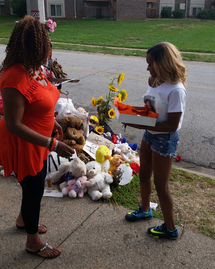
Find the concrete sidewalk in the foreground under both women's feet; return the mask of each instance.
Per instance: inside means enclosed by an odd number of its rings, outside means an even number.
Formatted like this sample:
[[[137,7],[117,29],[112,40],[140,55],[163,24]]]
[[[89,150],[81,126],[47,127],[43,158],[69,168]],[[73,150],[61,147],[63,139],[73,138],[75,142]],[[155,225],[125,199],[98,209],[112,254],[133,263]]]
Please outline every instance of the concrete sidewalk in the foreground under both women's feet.
[[[146,234],[152,219],[128,223],[128,209],[84,198],[43,197],[40,221],[47,226],[41,238],[59,247],[60,257],[44,260],[24,250],[25,233],[14,223],[21,203],[21,187],[15,177],[0,177],[0,268],[215,268],[215,241],[185,230],[182,239],[157,240]],[[179,227],[180,235],[182,228]]]

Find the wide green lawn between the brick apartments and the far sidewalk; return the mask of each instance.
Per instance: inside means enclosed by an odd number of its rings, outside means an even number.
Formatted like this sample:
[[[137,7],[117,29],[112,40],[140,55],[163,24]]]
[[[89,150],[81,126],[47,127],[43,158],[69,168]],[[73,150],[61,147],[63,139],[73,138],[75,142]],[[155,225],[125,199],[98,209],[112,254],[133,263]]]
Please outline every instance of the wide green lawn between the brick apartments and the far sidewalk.
[[[0,16],[0,37],[9,37],[15,16]],[[56,20],[52,41],[126,48],[145,48],[160,41],[181,51],[215,53],[215,21],[207,20]]]

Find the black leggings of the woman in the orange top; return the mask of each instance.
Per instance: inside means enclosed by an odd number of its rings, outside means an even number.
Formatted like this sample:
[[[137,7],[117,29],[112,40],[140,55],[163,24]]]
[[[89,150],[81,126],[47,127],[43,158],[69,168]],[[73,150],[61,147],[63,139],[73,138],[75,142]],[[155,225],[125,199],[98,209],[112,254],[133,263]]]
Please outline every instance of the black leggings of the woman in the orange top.
[[[43,197],[47,161],[43,162],[43,169],[36,176],[26,176],[20,185],[22,187],[21,213],[28,234],[38,232],[40,202]]]

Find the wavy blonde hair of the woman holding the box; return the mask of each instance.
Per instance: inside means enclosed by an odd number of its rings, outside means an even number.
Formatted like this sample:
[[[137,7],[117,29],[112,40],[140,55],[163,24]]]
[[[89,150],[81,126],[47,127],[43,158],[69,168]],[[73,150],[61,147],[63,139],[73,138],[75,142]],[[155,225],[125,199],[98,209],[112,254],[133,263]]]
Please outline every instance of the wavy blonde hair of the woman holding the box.
[[[178,49],[168,42],[160,42],[151,47],[147,54],[151,54],[154,60],[154,69],[157,73],[157,82],[169,82],[176,84],[182,82],[186,87],[186,67]]]

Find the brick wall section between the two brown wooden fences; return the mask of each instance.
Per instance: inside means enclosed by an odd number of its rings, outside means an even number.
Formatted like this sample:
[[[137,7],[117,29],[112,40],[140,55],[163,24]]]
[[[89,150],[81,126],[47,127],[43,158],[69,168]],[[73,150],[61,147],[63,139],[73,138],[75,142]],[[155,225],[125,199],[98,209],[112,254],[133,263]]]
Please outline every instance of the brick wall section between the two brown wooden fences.
[[[146,18],[147,0],[117,0],[118,20],[142,20]]]

